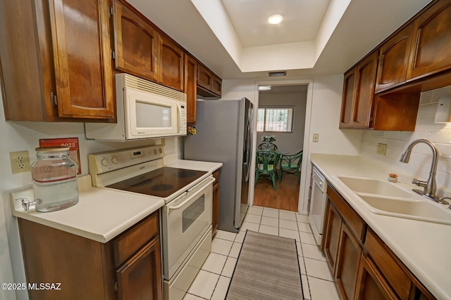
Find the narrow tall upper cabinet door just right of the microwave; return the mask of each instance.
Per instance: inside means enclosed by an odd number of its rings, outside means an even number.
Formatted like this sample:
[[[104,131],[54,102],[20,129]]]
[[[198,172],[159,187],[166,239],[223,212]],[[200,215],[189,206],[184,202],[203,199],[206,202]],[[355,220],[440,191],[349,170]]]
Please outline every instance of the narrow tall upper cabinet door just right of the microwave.
[[[197,61],[185,55],[185,93],[186,93],[186,120],[196,123],[197,100]]]

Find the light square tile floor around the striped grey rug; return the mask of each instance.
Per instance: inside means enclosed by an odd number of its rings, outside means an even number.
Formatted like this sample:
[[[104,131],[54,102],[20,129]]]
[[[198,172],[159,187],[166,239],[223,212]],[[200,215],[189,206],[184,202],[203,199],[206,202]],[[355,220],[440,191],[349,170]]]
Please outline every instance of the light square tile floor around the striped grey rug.
[[[304,298],[340,299],[326,258],[311,233],[307,216],[293,211],[249,207],[240,233],[223,230],[216,233],[211,244],[211,254],[192,282],[184,300],[223,300],[226,297],[247,229],[297,240]]]

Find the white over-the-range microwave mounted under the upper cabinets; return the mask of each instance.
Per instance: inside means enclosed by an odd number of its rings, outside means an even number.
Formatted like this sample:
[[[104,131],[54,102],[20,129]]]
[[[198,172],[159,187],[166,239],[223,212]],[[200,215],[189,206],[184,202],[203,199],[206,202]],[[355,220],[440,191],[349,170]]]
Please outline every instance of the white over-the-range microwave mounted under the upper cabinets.
[[[186,94],[130,74],[116,74],[118,122],[86,123],[86,138],[131,141],[185,136]]]

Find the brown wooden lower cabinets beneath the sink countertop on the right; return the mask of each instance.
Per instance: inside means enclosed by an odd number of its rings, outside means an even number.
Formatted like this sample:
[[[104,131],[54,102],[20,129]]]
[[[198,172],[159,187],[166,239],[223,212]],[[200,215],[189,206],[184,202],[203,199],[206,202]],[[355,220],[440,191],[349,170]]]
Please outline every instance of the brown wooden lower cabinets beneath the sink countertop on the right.
[[[321,249],[342,299],[435,299],[328,185]]]

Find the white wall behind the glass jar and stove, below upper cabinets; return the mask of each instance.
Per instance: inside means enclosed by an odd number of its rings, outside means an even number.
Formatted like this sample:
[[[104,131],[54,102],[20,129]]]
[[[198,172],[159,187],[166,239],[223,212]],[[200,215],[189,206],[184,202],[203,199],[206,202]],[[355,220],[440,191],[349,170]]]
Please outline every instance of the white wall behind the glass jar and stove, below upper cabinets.
[[[0,86],[1,87],[1,86]],[[0,102],[1,102],[0,93]],[[0,105],[0,282],[25,282],[22,254],[18,238],[16,218],[11,215],[9,192],[32,184],[31,173],[12,174],[9,152],[28,150],[30,161],[35,160],[35,148],[39,138],[77,137],[80,145],[82,175],[89,174],[87,155],[94,152],[152,145],[161,141],[147,140],[128,143],[88,141],[82,123],[6,122],[4,107]],[[182,153],[182,138],[166,138],[165,154]],[[0,299],[16,299],[14,291],[0,289]],[[20,291],[17,299],[28,299]]]

